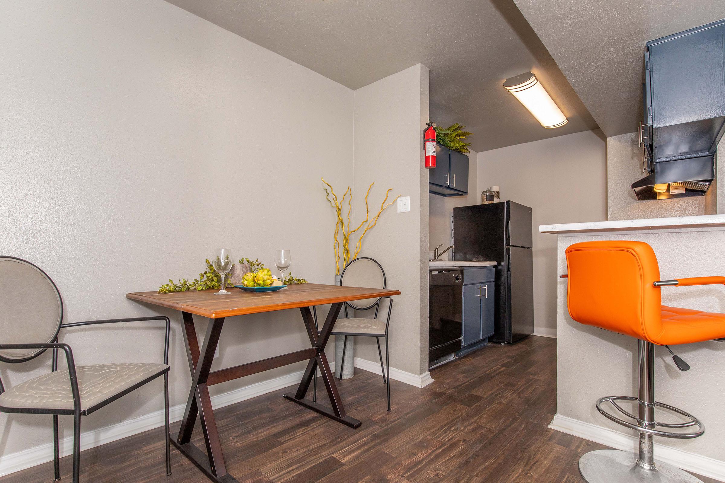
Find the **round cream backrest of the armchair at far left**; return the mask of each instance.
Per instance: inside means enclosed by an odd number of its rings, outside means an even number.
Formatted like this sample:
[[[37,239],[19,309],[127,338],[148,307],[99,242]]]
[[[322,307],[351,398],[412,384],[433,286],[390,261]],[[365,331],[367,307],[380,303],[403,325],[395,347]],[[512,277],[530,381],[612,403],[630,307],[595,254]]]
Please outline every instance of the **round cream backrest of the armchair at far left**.
[[[63,319],[53,280],[29,261],[0,256],[0,343],[51,343]],[[0,361],[22,362],[45,349],[0,350]]]

